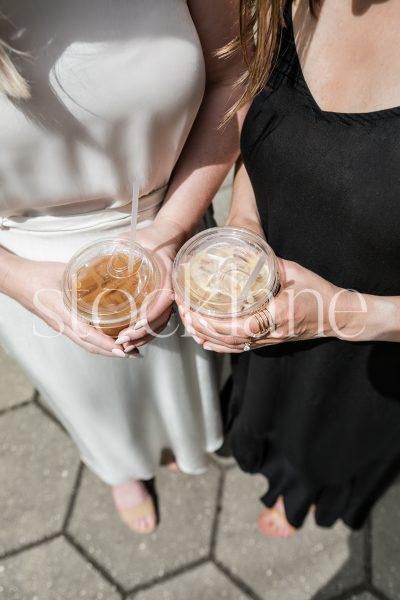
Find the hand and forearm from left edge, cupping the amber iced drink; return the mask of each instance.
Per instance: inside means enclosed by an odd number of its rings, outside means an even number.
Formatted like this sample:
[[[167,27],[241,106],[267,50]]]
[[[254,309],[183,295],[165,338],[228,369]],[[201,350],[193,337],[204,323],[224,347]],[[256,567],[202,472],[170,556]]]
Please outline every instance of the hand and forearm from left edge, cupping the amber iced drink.
[[[0,292],[42,319],[56,332],[55,336],[66,335],[91,354],[121,358],[138,354],[137,350],[125,354],[111,337],[72,316],[64,306],[62,297],[63,263],[32,261],[8,252],[5,254],[1,261],[3,276]],[[35,334],[49,337],[47,332],[36,331]]]

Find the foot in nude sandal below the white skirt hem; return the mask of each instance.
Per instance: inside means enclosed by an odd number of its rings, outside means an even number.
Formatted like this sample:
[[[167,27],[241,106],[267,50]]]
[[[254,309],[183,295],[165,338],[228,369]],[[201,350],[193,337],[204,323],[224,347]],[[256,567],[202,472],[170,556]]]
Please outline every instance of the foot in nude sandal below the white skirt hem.
[[[152,533],[157,527],[154,502],[142,481],[127,481],[112,487],[115,507],[122,521],[137,533]]]

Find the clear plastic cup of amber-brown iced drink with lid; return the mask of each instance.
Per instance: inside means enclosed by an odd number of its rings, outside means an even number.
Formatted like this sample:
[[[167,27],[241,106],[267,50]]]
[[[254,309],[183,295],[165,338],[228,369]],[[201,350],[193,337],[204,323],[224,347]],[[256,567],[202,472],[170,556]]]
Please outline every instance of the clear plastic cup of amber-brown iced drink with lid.
[[[106,239],[79,250],[69,261],[63,278],[64,304],[79,320],[107,335],[134,325],[156,298],[160,272],[155,258],[134,244]]]

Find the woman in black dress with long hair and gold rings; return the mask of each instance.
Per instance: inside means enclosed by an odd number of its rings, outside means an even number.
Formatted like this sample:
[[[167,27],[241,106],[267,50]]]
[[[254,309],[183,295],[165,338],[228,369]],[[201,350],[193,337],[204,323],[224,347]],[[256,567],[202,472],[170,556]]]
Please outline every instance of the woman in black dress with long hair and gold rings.
[[[183,316],[234,354],[227,425],[240,466],[268,478],[261,529],[286,537],[311,508],[359,528],[400,470],[400,3],[252,7],[228,224],[280,257],[275,330]]]

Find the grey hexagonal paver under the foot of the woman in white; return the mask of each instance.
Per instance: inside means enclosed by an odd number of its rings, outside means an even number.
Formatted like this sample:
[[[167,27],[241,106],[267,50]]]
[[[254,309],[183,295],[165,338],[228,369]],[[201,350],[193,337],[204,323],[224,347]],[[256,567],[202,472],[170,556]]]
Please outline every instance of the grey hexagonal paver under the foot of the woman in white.
[[[220,474],[189,476],[160,469],[161,523],[150,536],[119,519],[110,489],[85,472],[69,530],[125,589],[208,556]]]

